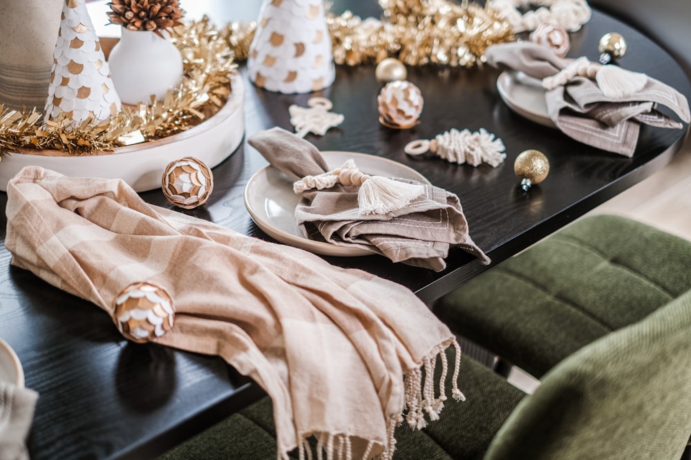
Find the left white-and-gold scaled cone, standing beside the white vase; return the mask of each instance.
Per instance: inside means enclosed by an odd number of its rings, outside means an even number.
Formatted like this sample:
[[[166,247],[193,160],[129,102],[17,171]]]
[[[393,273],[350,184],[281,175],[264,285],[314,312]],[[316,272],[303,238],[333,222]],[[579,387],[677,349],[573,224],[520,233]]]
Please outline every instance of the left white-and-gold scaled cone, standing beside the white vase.
[[[120,112],[108,63],[84,0],[65,0],[50,76],[46,121],[65,119],[97,121]]]

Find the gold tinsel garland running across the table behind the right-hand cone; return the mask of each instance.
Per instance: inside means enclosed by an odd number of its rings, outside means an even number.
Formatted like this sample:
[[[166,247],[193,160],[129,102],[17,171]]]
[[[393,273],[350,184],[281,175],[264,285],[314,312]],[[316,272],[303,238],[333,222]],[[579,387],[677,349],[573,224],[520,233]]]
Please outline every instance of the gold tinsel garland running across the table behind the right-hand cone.
[[[361,19],[350,11],[326,17],[334,62],[345,66],[379,63],[387,57],[408,66],[471,67],[493,43],[513,41],[513,30],[492,8],[463,1],[379,0],[384,21]],[[255,23],[225,30],[238,61],[247,59]]]

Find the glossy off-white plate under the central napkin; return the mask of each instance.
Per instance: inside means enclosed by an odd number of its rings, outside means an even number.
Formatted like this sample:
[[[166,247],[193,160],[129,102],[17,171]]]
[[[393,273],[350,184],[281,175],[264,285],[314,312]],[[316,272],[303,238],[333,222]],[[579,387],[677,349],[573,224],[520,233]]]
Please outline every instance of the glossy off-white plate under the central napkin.
[[[339,168],[348,159],[353,159],[357,167],[366,174],[429,183],[419,172],[390,159],[353,152],[327,151],[321,154],[331,169]],[[257,226],[276,241],[327,256],[355,257],[372,254],[363,248],[307,239],[295,221],[295,207],[300,199],[300,195],[293,192],[293,181],[273,166],[256,172],[245,187],[245,206],[249,214]]]

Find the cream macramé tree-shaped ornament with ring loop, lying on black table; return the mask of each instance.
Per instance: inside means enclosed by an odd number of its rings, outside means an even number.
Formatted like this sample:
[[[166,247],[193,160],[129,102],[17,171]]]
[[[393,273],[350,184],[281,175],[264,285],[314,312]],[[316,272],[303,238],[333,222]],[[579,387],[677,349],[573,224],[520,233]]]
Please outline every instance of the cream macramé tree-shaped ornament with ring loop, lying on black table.
[[[434,139],[419,139],[409,142],[404,152],[417,156],[433,152],[450,163],[468,163],[478,166],[483,161],[493,168],[499,166],[507,157],[504,142],[484,128],[480,131],[457,130],[455,128],[437,134]]]

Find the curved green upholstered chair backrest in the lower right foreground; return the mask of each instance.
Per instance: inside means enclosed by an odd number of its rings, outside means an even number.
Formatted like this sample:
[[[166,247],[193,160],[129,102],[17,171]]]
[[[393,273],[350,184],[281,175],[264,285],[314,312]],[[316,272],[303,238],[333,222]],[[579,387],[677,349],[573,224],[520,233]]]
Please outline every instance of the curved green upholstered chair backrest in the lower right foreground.
[[[561,361],[488,460],[680,459],[691,434],[691,291]]]

